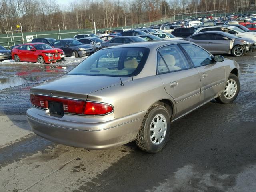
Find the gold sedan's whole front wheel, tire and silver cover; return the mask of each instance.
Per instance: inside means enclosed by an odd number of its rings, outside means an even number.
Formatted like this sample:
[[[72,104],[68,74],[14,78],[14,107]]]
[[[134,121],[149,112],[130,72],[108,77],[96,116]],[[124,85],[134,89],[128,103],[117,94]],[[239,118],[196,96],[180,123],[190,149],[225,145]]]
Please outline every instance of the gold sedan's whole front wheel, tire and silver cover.
[[[233,102],[240,91],[240,82],[235,74],[230,74],[228,81],[223,92],[216,100],[220,103],[231,103]]]

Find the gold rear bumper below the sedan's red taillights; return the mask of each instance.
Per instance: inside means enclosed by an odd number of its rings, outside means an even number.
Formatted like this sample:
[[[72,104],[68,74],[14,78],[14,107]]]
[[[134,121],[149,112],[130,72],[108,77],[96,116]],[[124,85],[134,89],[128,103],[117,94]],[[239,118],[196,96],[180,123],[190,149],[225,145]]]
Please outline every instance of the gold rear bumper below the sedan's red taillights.
[[[56,118],[47,115],[46,111],[32,107],[26,112],[28,123],[35,134],[60,144],[90,150],[104,150],[135,140],[146,114],[143,111],[101,122],[97,117],[98,122],[90,122],[92,118],[86,116],[67,114],[67,121],[65,114],[62,118]]]

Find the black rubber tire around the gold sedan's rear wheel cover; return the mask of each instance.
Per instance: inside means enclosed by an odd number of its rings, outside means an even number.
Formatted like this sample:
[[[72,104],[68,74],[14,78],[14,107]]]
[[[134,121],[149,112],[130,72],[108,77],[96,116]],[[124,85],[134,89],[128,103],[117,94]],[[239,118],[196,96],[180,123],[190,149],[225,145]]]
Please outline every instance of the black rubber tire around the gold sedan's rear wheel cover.
[[[152,122],[154,119],[156,119],[156,116],[158,116],[158,114],[161,114],[164,116],[164,118],[166,120],[166,128],[167,129],[166,129],[166,134],[165,134],[163,140],[159,144],[154,144],[153,143],[154,141],[152,141],[153,138],[152,139],[150,138],[150,135],[152,132],[150,130],[150,127],[152,126]],[[148,110],[148,112],[146,113],[146,115],[143,119],[139,133],[135,139],[137,146],[141,150],[148,152],[148,153],[157,153],[160,150],[162,150],[162,148],[164,148],[164,146],[166,145],[166,142],[168,141],[169,135],[170,135],[170,126],[171,126],[170,116],[171,116],[171,114],[169,114],[168,110],[166,110],[166,108],[162,105],[154,105]],[[160,130],[159,130],[159,132],[160,132]]]

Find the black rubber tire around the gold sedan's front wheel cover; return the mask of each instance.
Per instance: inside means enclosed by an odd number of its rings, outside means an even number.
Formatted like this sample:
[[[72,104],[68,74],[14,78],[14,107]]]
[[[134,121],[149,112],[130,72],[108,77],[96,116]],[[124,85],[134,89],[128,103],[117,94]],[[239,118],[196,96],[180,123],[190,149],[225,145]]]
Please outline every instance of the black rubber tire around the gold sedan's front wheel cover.
[[[228,81],[226,82],[226,86],[228,86],[228,82],[230,80],[234,80],[236,82],[236,93],[234,94],[234,96],[232,96],[232,98],[226,98],[226,96],[224,95],[224,92],[226,92],[226,88],[225,88],[224,91],[220,94],[220,96],[216,98],[217,102],[232,103],[234,100],[236,100],[236,97],[238,96],[238,93],[240,91],[240,82],[238,77],[235,74],[230,74],[228,77]]]

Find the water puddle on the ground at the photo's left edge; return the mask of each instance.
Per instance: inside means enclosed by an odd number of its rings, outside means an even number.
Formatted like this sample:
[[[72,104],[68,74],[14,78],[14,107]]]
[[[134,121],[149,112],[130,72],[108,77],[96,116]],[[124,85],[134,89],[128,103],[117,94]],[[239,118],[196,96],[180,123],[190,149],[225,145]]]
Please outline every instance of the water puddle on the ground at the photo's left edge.
[[[20,78],[20,77],[8,77],[0,79],[0,90],[8,87],[14,87],[18,85],[23,85],[26,83],[31,83],[30,81]]]

